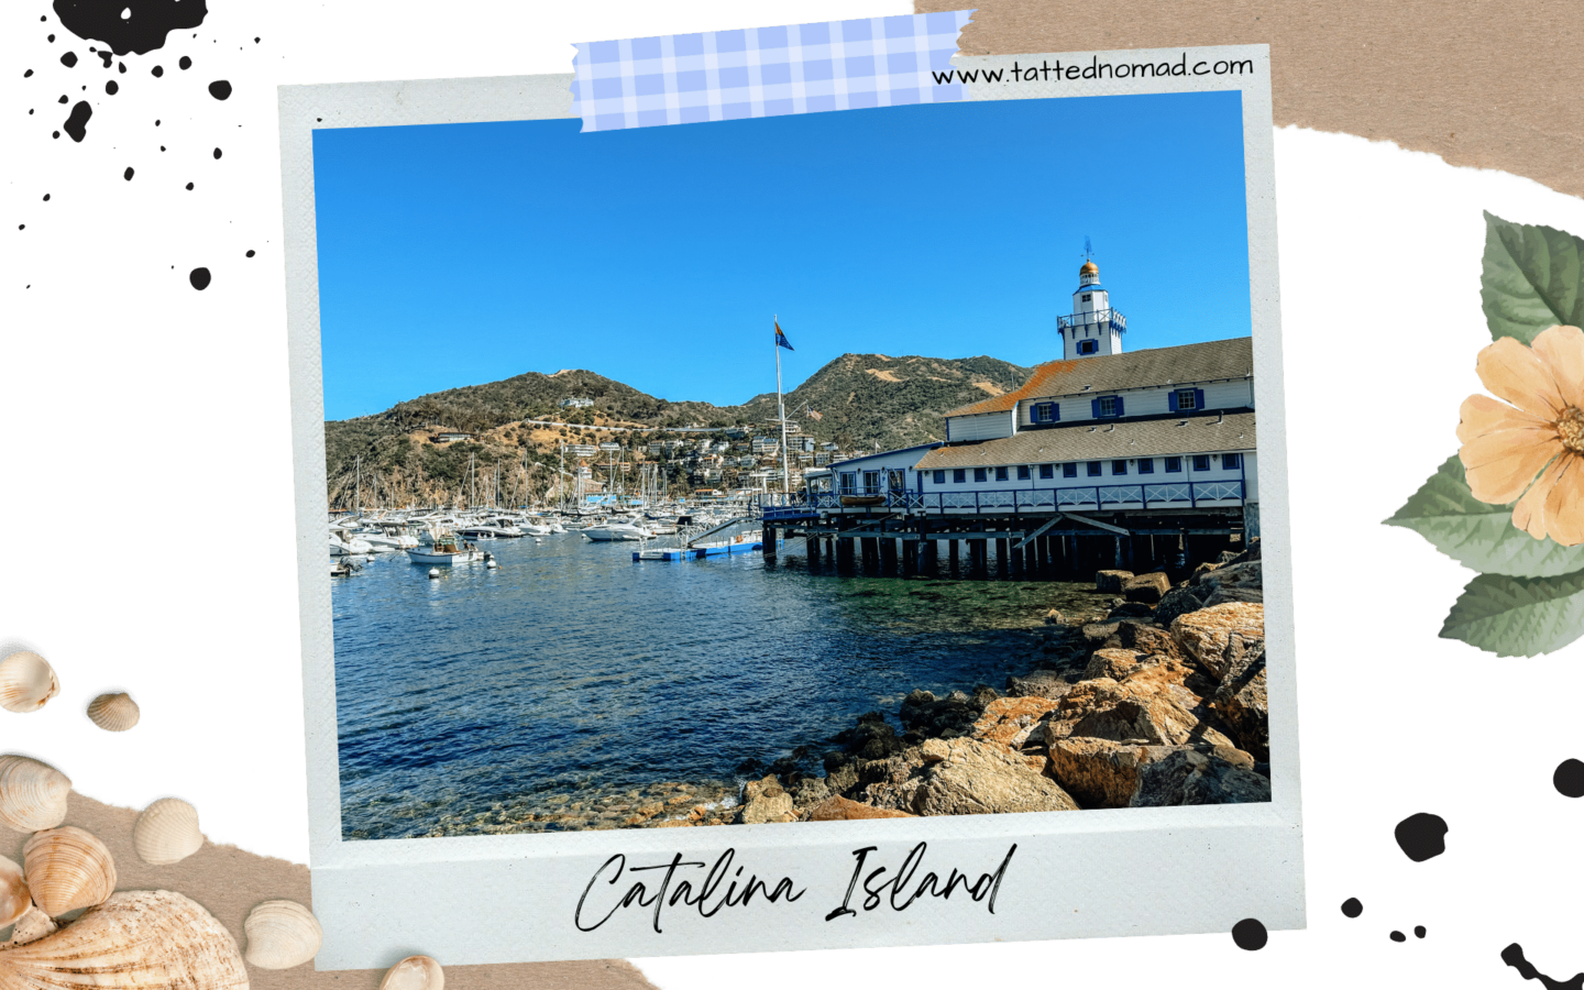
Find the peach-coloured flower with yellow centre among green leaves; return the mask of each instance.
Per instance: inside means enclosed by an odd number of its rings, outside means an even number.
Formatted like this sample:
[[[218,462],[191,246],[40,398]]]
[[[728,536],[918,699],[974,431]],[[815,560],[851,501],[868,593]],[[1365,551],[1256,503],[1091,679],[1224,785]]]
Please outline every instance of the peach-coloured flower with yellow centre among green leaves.
[[[1517,499],[1513,526],[1536,540],[1584,543],[1584,331],[1552,326],[1532,347],[1502,337],[1479,348],[1475,374],[1497,398],[1476,391],[1457,407],[1470,491]]]

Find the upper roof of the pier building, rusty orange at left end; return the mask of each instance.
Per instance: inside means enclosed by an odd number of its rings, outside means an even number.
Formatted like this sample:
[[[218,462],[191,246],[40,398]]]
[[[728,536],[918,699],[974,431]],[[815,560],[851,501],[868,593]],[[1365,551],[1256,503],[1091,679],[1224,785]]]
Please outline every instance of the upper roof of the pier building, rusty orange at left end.
[[[1123,388],[1186,385],[1255,374],[1255,339],[1205,341],[1180,347],[1156,347],[1133,353],[1099,355],[1071,361],[1047,361],[1034,367],[1022,386],[1000,396],[950,410],[949,417],[1007,412],[1022,399],[1104,394]]]

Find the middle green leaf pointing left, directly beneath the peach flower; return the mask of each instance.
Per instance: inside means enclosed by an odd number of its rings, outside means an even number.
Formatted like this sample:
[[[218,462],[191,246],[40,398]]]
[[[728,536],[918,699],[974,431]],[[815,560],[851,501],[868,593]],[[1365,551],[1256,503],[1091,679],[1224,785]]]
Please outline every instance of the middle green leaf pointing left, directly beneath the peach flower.
[[[1511,505],[1481,502],[1468,491],[1464,463],[1453,455],[1381,526],[1411,529],[1475,573],[1551,578],[1584,570],[1584,545],[1536,540],[1513,526]]]

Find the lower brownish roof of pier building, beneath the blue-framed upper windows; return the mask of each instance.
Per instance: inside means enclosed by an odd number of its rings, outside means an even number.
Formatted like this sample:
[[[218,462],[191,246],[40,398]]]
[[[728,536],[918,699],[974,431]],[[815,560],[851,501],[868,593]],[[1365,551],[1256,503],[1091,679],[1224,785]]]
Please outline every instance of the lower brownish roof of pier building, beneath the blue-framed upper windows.
[[[1079,421],[1050,429],[1026,429],[1001,440],[931,450],[919,461],[919,470],[1159,458],[1223,450],[1255,450],[1253,412]]]

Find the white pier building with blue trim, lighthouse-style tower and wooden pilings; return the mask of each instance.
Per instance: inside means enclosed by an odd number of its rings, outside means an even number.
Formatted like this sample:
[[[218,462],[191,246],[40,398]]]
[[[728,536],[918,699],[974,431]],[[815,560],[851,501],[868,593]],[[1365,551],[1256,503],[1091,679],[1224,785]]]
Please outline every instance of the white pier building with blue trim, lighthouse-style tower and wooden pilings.
[[[1001,573],[1191,567],[1259,532],[1253,339],[1128,352],[1126,317],[1087,261],[1061,358],[946,413],[946,439],[833,461],[828,489],[767,496],[767,527],[892,572],[958,542]],[[767,531],[767,546],[775,542]],[[852,542],[857,540],[857,546]]]

